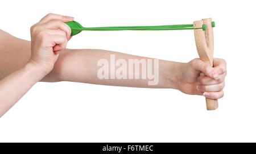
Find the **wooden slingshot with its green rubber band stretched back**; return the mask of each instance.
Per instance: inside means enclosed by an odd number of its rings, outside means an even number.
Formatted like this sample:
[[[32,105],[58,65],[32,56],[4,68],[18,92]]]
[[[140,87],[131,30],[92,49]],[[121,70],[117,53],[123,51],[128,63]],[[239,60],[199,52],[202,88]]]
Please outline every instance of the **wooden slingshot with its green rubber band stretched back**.
[[[81,24],[72,21],[66,23],[71,27],[71,36],[79,34],[81,31],[156,31],[156,30],[194,30],[196,48],[201,60],[213,66],[213,27],[215,23],[211,18],[202,19],[193,24],[175,24],[163,26],[120,26],[120,27],[83,27]],[[217,99],[206,98],[207,110],[218,108]]]

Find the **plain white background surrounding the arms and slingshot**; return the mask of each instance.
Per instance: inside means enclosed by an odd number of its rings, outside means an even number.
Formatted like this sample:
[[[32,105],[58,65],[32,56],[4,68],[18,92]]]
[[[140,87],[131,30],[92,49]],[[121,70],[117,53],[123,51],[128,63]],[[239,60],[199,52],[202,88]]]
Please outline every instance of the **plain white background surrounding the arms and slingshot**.
[[[75,16],[86,27],[212,18],[214,57],[228,63],[224,98],[207,111],[204,97],[172,89],[40,82],[0,118],[1,142],[256,141],[254,1],[1,1],[0,28],[30,40],[30,27],[48,13]],[[192,30],[84,31],[68,48],[180,62],[198,57]]]

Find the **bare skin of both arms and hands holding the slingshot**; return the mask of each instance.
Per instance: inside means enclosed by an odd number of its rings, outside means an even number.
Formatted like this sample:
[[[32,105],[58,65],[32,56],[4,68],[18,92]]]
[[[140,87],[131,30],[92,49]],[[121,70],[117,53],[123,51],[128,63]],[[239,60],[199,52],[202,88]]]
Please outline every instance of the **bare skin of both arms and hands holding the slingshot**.
[[[39,81],[171,88],[212,99],[223,97],[226,76],[223,59],[214,59],[213,67],[200,59],[188,63],[159,60],[159,84],[154,86],[148,85],[147,79],[98,79],[97,71],[101,66],[97,66],[97,61],[100,59],[110,60],[110,55],[126,61],[150,58],[101,49],[67,49],[72,37],[65,22],[72,20],[72,17],[57,14],[44,16],[31,27],[31,42],[0,30],[3,44],[0,45],[0,117]]]

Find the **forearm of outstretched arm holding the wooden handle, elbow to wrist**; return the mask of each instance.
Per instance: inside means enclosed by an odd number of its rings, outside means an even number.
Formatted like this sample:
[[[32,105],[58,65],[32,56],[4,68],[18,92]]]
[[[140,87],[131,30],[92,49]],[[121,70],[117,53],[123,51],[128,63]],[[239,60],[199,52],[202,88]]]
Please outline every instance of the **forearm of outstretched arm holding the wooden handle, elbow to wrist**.
[[[98,66],[97,63],[100,59],[106,59],[109,61],[110,69],[110,55],[114,55],[115,61],[118,59],[125,60],[127,62],[127,79],[117,79],[117,77],[110,75],[109,79],[100,79],[97,74],[102,66]],[[85,82],[89,84],[100,84],[100,85],[114,85],[114,86],[130,86],[130,87],[141,87],[141,88],[173,88],[177,89],[177,72],[175,65],[176,62],[159,60],[159,82],[156,85],[148,85],[148,81],[153,79],[142,79],[142,66],[139,69],[139,79],[134,79],[135,68],[133,72],[133,79],[129,78],[129,59],[130,60],[147,60],[150,58],[127,55],[125,53],[105,51],[101,49],[65,49],[60,54],[59,59],[55,64],[55,73],[61,81],[73,81],[73,82]],[[112,59],[113,60],[113,59]],[[152,74],[154,74],[154,59],[152,60]],[[142,64],[141,64],[142,65]],[[146,64],[148,67],[148,63]],[[120,66],[115,66],[114,73]],[[156,74],[154,74],[156,76]]]

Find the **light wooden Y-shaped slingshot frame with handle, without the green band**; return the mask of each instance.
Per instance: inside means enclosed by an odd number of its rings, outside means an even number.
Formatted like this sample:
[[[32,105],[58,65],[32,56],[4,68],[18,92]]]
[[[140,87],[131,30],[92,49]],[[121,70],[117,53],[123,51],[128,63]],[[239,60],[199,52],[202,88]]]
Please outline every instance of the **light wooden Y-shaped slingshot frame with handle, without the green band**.
[[[206,30],[202,29],[203,24],[206,25]],[[205,63],[213,66],[213,28],[212,19],[202,19],[193,23],[194,28],[199,28],[194,30],[196,49],[201,60]],[[217,99],[206,98],[207,110],[215,110],[218,108]]]

